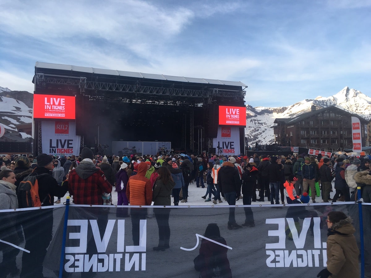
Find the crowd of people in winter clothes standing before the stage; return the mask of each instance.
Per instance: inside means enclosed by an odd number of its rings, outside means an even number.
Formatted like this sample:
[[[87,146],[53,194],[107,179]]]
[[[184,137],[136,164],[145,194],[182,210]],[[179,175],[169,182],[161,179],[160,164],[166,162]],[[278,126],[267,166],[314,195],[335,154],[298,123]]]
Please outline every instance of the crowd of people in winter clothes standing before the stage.
[[[0,159],[0,165],[0,209],[19,207],[17,189],[20,182],[29,176],[37,176],[43,206],[53,205],[55,196],[58,197],[55,202],[60,203],[60,197],[67,192],[76,204],[110,205],[114,189],[118,196],[117,205],[135,206],[130,212],[134,245],[139,245],[141,220],[147,216],[147,209],[140,206],[148,206],[152,202],[156,206],[186,203],[192,181],[198,188],[207,186],[200,198],[214,204],[225,200],[229,205],[235,205],[240,198],[243,205],[265,201],[265,198],[271,204],[279,204],[280,201],[301,203],[309,202],[309,196],[315,203],[316,195],[321,195],[323,202],[329,202],[333,179],[336,192],[332,202],[355,201],[357,185],[362,187],[364,201],[371,202],[369,156],[358,158],[340,155],[328,158],[255,154],[248,157],[208,156],[203,153],[197,156],[118,157],[94,155],[91,149],[83,148],[78,157],[40,154],[36,158],[27,158],[7,155]],[[245,222],[242,225],[236,223],[234,211],[235,207],[229,208],[228,229],[255,226],[251,208],[244,208]],[[127,208],[118,209],[117,213],[120,217],[129,217]],[[159,243],[153,249],[164,251],[170,248],[170,210],[154,209],[154,215],[159,228]],[[38,232],[37,237],[34,226],[23,229],[25,248],[37,249],[37,255],[30,256],[23,252],[20,277],[42,277],[42,262],[52,238],[52,218],[50,213],[43,216],[49,224]],[[4,248],[3,254],[5,252],[7,255],[9,250]],[[3,259],[1,266],[5,269],[3,274],[13,275],[19,270],[14,254],[8,255],[6,258],[9,259]]]

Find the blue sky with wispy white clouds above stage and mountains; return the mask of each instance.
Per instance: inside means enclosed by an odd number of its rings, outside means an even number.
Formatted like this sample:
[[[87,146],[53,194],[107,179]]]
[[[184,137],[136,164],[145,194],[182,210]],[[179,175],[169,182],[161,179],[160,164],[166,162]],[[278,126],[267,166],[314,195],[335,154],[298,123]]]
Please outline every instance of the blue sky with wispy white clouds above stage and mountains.
[[[35,62],[241,81],[286,106],[345,86],[371,96],[371,0],[0,0],[0,86]]]

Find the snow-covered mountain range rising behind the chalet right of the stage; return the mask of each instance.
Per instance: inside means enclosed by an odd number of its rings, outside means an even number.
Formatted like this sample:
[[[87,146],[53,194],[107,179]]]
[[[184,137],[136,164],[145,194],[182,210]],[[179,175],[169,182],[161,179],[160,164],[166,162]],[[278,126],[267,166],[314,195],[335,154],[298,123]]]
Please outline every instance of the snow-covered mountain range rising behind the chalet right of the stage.
[[[371,119],[371,97],[355,89],[345,87],[336,95],[330,97],[318,96],[315,99],[305,99],[287,107],[252,107],[246,106],[245,136],[249,145],[274,143],[272,126],[276,118],[293,118],[296,115],[310,112],[312,105],[317,109],[336,106],[350,113],[356,113],[364,119]]]

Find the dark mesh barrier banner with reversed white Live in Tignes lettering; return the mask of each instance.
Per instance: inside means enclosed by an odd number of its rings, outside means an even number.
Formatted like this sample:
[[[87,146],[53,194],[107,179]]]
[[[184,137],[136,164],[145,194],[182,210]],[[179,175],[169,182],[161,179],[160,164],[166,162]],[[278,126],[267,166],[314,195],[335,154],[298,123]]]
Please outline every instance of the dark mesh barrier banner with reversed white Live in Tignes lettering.
[[[58,277],[64,209],[0,212],[1,219],[16,219],[0,223],[1,240],[10,242],[7,234],[18,235],[13,244],[19,248],[7,245],[17,253],[13,253],[16,267],[21,270],[22,263],[29,262],[27,256],[37,258],[33,268],[24,265],[30,277],[39,277],[37,269],[45,277]],[[63,277],[197,278],[200,273],[210,278],[316,277],[326,267],[325,219],[330,211],[352,217],[359,242],[358,205],[354,203],[171,208],[70,205]],[[234,220],[246,226],[228,225]]]

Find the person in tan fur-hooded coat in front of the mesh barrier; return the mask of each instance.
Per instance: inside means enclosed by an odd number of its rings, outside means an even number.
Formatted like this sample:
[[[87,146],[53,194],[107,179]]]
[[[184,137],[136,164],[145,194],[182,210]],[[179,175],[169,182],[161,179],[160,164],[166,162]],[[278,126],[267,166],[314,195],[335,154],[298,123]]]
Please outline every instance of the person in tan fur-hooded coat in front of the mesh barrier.
[[[359,277],[359,249],[352,219],[341,211],[331,211],[327,216],[327,268],[322,269],[320,278]]]

